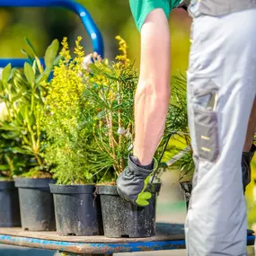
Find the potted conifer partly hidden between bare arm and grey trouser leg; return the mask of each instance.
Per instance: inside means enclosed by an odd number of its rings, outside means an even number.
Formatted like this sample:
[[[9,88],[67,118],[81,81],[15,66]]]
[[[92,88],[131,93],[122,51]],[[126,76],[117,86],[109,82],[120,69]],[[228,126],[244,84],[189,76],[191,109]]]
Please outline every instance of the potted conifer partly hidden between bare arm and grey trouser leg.
[[[180,187],[184,193],[188,208],[195,165],[190,143],[186,87],[187,79],[185,75],[181,74],[172,77],[172,101],[165,129],[168,143],[164,150],[163,167],[165,169],[179,170]]]

